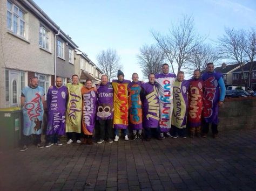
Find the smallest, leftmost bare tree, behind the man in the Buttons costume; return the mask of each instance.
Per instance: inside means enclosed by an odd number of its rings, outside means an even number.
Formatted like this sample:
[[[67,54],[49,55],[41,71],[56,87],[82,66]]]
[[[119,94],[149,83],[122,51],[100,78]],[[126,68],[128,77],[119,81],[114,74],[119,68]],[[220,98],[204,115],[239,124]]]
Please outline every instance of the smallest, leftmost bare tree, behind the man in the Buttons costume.
[[[101,51],[97,55],[97,61],[99,68],[109,77],[109,80],[116,76],[118,69],[123,68],[120,65],[120,57],[114,49],[109,48],[106,51]]]

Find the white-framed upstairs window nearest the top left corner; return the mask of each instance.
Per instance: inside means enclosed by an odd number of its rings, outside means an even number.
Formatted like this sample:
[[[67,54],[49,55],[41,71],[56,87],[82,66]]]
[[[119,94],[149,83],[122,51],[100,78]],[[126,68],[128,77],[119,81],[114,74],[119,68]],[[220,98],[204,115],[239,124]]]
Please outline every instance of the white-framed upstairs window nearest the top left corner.
[[[26,36],[26,22],[25,22],[25,15],[26,13],[19,8],[16,4],[6,1],[7,2],[7,15],[6,15],[6,23],[7,29],[11,31],[13,34],[25,38]],[[11,5],[11,8],[8,8],[8,5]],[[15,24],[15,18],[17,18],[17,23]],[[22,24],[23,23],[23,24]],[[17,25],[17,29],[15,27]]]

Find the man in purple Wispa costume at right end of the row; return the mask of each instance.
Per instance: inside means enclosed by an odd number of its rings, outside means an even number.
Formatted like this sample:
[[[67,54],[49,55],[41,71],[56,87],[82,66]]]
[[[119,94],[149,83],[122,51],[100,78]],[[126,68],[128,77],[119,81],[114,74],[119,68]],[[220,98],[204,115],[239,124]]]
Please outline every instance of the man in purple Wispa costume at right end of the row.
[[[207,63],[206,73],[203,74],[204,97],[203,97],[203,137],[207,137],[209,124],[212,124],[212,137],[218,138],[218,113],[223,105],[226,88],[223,75],[214,71],[213,63]]]

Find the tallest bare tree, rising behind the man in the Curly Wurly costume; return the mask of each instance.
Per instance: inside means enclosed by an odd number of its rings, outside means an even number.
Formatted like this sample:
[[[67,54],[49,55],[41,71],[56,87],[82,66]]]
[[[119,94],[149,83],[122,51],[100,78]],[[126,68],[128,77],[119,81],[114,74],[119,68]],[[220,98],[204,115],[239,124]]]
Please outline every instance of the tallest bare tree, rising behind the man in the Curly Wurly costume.
[[[189,61],[192,50],[204,41],[204,38],[200,37],[194,29],[193,18],[188,16],[183,16],[177,24],[172,23],[169,33],[165,36],[155,31],[151,33],[171,63],[174,74],[173,64],[178,66],[178,73]]]

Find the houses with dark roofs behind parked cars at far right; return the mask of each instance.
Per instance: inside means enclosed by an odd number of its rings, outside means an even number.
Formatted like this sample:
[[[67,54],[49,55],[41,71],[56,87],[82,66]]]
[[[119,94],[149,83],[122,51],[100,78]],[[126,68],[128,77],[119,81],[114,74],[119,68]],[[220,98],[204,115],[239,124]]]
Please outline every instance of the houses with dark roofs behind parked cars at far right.
[[[242,68],[244,70],[244,78],[242,76],[242,69],[238,63],[233,65],[223,63],[220,67],[216,67],[215,71],[223,73],[226,86],[246,86],[246,79],[248,87],[252,90],[256,90],[256,61],[252,62],[252,73],[250,78],[248,78],[250,62],[246,63]]]

